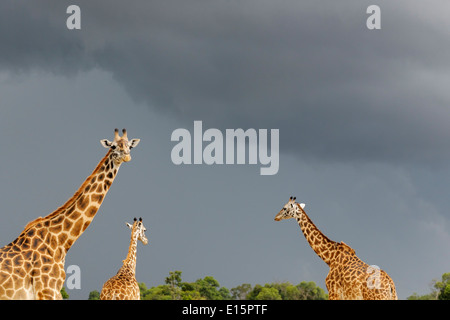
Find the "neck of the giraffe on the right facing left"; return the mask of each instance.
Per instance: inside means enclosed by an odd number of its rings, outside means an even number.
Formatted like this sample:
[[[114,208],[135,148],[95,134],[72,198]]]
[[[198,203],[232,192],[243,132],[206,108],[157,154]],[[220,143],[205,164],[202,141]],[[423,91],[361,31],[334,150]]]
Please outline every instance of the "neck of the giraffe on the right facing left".
[[[311,248],[329,265],[336,254],[337,243],[328,239],[304,211],[297,218],[297,222]]]

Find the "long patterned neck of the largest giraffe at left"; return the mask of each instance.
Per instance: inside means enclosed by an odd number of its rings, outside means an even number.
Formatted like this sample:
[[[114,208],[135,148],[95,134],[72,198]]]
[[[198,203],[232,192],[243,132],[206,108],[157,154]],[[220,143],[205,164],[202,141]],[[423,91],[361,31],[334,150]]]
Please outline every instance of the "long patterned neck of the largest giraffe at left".
[[[112,159],[111,150],[108,151],[65,204],[46,217],[28,223],[23,233],[36,233],[42,240],[48,238],[49,243],[55,243],[66,253],[94,219],[119,167]]]

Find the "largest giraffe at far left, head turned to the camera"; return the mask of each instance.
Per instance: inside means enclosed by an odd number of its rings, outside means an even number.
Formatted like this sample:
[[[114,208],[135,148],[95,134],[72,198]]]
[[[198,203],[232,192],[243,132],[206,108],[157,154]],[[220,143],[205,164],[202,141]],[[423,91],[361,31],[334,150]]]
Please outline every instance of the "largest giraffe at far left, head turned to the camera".
[[[100,140],[108,152],[67,202],[29,222],[17,239],[0,248],[0,299],[62,299],[67,251],[94,219],[119,167],[131,160],[130,149],[140,141],[129,141],[122,132],[120,137],[115,129],[112,142]]]

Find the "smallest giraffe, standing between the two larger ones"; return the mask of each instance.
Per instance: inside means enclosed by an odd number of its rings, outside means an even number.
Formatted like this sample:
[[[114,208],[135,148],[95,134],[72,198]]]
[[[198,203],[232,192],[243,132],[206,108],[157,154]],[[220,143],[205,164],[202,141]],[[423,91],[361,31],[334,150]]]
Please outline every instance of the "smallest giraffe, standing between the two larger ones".
[[[100,300],[140,300],[141,293],[136,281],[136,249],[138,240],[144,245],[148,243],[142,218],[134,218],[133,225],[126,223],[131,229],[130,247],[128,255],[123,260],[122,267],[117,274],[103,284]]]

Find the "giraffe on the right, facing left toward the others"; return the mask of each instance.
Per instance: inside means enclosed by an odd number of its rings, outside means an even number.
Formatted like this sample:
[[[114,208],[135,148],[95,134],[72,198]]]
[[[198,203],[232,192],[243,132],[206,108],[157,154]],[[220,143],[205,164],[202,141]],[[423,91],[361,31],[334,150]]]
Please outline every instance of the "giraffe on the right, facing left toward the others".
[[[391,277],[360,260],[349,245],[327,238],[303,210],[304,203],[289,201],[275,221],[295,218],[314,252],[330,267],[325,284],[330,300],[397,300]]]

